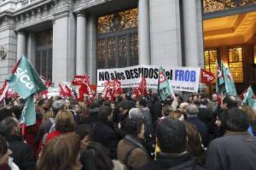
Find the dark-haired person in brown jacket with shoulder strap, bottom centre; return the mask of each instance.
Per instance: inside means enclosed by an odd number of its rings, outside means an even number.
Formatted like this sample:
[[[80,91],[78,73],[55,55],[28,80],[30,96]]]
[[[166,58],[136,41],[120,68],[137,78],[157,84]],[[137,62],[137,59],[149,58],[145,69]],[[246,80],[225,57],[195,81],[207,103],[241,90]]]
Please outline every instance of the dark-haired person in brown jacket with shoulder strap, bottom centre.
[[[144,138],[144,124],[140,119],[128,119],[125,125],[126,136],[117,146],[117,158],[127,168],[139,169],[149,163],[148,152],[140,140]]]

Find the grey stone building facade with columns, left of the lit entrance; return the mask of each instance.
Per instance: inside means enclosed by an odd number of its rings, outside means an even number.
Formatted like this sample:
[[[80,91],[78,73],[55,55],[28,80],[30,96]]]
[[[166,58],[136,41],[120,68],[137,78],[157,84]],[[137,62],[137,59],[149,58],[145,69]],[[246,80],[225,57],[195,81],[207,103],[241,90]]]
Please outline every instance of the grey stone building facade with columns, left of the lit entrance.
[[[100,34],[100,17],[112,17],[108,24],[114,27],[127,22],[125,11],[131,9],[137,25]],[[101,59],[108,63],[104,68],[203,67],[201,12],[200,0],[1,0],[0,46],[6,56],[0,59],[0,82],[23,54],[54,84],[80,74],[96,83]]]

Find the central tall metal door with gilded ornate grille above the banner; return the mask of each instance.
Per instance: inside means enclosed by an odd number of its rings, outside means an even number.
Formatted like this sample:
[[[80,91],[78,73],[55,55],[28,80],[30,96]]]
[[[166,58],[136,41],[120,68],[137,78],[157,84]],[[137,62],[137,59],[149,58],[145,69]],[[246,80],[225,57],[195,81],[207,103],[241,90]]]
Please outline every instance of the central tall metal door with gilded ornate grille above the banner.
[[[137,27],[137,9],[98,18],[97,68],[121,68],[139,63]]]

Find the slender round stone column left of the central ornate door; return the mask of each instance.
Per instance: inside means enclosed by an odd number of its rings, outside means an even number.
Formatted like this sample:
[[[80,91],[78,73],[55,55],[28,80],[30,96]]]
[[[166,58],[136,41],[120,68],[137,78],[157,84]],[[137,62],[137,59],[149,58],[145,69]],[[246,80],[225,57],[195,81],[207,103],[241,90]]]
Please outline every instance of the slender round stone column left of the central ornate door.
[[[77,14],[77,47],[75,60],[76,75],[86,72],[86,18],[82,12]]]

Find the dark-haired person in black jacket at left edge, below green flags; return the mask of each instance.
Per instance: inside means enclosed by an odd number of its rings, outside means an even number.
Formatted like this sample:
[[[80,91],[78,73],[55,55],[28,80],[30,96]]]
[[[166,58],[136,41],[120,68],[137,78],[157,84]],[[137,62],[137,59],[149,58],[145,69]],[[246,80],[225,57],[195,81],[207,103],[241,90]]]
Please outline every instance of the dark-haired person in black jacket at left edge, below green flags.
[[[14,158],[14,163],[20,169],[34,170],[36,169],[36,160],[33,156],[32,149],[28,144],[22,142],[22,137],[17,133],[19,122],[17,119],[9,117],[1,121],[0,134],[6,137],[9,143],[9,148],[12,150],[11,157]]]

